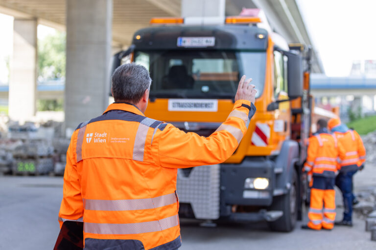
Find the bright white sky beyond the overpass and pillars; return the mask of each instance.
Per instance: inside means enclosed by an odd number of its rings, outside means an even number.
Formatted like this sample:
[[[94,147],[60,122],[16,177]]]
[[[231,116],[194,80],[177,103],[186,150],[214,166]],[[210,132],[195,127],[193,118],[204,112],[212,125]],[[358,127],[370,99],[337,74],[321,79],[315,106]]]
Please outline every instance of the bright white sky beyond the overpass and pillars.
[[[344,77],[354,60],[376,60],[376,0],[296,0],[326,75]],[[38,38],[54,30],[38,25]],[[0,14],[0,83],[11,55],[13,18]]]

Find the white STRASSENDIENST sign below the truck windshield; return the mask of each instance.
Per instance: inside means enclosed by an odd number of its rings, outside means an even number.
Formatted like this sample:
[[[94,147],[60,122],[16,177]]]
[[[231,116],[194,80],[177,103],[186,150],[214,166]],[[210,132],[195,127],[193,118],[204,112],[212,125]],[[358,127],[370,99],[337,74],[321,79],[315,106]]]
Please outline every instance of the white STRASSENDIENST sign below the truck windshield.
[[[169,99],[168,111],[202,111],[216,112],[218,110],[217,100],[201,99]]]

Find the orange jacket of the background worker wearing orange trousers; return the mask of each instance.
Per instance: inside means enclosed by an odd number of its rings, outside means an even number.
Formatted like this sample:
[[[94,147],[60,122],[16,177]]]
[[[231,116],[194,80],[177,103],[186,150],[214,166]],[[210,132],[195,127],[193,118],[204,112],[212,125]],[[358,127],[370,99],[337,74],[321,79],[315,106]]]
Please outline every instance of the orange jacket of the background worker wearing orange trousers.
[[[336,137],[329,133],[320,133],[309,138],[307,159],[304,169],[313,176],[335,177],[338,159],[345,158],[345,149]]]

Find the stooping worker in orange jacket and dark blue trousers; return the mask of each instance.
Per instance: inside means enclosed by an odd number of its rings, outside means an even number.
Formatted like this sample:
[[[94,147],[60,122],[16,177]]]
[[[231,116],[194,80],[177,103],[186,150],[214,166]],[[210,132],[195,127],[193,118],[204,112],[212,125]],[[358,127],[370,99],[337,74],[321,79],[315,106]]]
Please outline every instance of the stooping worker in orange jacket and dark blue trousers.
[[[352,176],[358,169],[364,167],[366,160],[366,149],[359,134],[341,124],[338,118],[332,118],[328,122],[328,127],[334,133],[337,140],[341,142],[346,151],[346,157],[339,165],[339,174],[335,180],[335,185],[342,192],[344,212],[342,221],[336,222],[339,226],[352,226],[352,202],[355,199],[352,192]]]

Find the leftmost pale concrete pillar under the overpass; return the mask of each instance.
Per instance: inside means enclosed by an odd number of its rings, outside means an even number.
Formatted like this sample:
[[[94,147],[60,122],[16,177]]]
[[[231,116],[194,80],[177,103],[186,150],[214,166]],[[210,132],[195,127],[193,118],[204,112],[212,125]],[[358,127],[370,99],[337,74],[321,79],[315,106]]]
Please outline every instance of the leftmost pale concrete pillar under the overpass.
[[[36,112],[37,19],[14,19],[9,117],[24,122]]]

